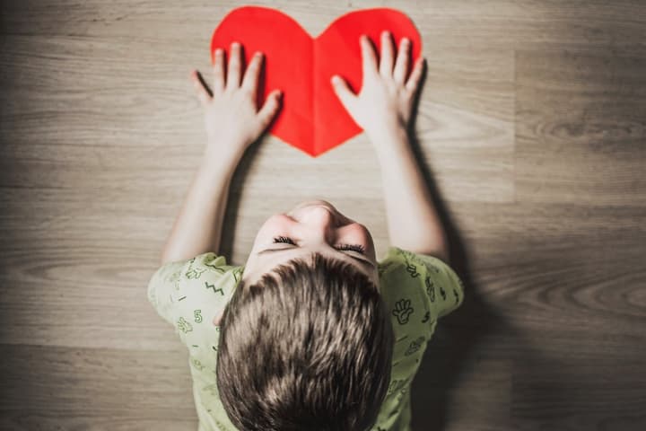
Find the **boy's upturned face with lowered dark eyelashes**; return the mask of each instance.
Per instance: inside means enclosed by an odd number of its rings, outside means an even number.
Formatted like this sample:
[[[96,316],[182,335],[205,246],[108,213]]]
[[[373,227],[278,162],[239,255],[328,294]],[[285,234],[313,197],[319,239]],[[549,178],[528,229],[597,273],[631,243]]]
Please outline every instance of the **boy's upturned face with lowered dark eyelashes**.
[[[278,236],[287,237],[296,245],[274,242]],[[340,244],[362,245],[365,254],[336,250]],[[363,224],[339,213],[326,200],[301,202],[286,214],[269,217],[256,235],[242,278],[247,285],[253,284],[263,274],[290,259],[299,257],[311,261],[310,255],[314,251],[354,265],[370,277],[375,286],[380,286],[371,233]],[[222,314],[215,316],[214,324],[219,325],[221,317]]]

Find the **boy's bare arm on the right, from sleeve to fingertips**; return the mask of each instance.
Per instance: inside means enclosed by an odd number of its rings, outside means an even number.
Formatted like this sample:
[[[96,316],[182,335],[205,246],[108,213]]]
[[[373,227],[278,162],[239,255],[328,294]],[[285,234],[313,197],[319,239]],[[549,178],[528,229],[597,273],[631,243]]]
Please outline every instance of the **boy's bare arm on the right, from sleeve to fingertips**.
[[[449,263],[446,234],[407,135],[421,81],[423,57],[417,58],[406,80],[409,40],[401,40],[397,62],[389,33],[381,34],[380,62],[370,40],[362,37],[360,43],[361,92],[355,95],[342,79],[333,79],[332,84],[339,100],[365,130],[379,156],[390,245]]]

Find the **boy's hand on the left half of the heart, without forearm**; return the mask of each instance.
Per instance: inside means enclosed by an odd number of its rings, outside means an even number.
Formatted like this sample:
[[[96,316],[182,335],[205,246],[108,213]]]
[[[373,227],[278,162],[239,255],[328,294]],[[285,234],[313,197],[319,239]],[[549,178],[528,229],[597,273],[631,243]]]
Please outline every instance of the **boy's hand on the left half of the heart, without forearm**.
[[[256,97],[262,55],[256,52],[249,61],[241,85],[240,57],[240,44],[233,42],[225,79],[223,49],[215,50],[213,96],[200,81],[196,70],[190,74],[197,97],[205,109],[207,150],[223,156],[244,154],[247,147],[269,126],[278,111],[282,95],[279,90],[271,92],[258,111]]]

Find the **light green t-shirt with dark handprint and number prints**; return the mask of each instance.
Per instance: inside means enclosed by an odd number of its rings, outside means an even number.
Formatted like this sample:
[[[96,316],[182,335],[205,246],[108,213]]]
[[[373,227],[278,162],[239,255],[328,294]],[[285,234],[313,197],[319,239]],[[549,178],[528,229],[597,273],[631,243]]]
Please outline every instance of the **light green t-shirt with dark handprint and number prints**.
[[[410,387],[437,320],[464,300],[458,275],[441,259],[388,247],[378,262],[380,293],[390,311],[395,333],[388,395],[372,431],[410,429]],[[148,300],[188,347],[198,431],[236,428],[223,409],[216,379],[220,327],[214,317],[223,311],[240,282],[244,266],[227,265],[223,256],[206,252],[192,259],[168,262],[148,284]]]

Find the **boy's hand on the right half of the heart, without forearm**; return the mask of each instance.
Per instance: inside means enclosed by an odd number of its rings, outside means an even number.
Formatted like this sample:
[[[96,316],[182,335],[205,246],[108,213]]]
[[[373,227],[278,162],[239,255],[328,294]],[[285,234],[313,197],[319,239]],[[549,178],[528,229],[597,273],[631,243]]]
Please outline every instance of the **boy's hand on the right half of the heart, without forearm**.
[[[371,140],[397,131],[397,128],[407,130],[415,92],[422,77],[423,57],[417,58],[413,71],[406,81],[410,40],[407,38],[401,40],[396,61],[390,33],[383,31],[379,65],[367,36],[361,36],[360,44],[362,89],[359,94],[354,94],[343,78],[334,75],[331,81],[336,96]]]

